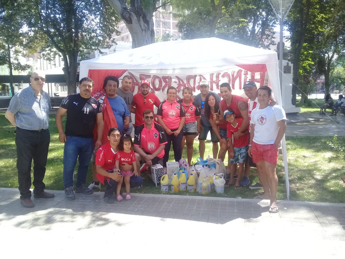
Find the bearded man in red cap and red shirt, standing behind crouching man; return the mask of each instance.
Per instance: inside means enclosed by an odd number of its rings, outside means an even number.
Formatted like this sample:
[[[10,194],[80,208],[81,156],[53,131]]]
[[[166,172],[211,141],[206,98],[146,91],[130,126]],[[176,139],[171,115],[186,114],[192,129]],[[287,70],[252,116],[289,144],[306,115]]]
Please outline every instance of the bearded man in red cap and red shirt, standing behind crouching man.
[[[158,97],[150,93],[150,81],[144,79],[140,82],[141,93],[137,93],[133,97],[133,105],[131,107],[131,113],[135,114],[134,129],[144,123],[142,119],[142,113],[146,110],[152,110],[153,106],[159,106],[160,100]]]

